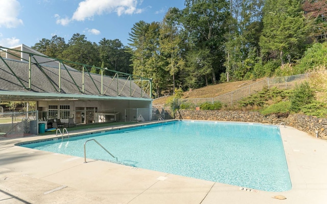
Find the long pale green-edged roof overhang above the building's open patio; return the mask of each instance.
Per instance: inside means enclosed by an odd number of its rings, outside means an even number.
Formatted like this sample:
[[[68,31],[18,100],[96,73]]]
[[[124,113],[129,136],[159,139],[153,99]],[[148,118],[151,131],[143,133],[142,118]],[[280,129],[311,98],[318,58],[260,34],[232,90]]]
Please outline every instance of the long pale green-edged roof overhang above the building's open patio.
[[[152,101],[151,98],[100,96],[86,94],[39,93],[24,91],[1,91],[0,101],[41,101],[41,100],[138,100]]]

